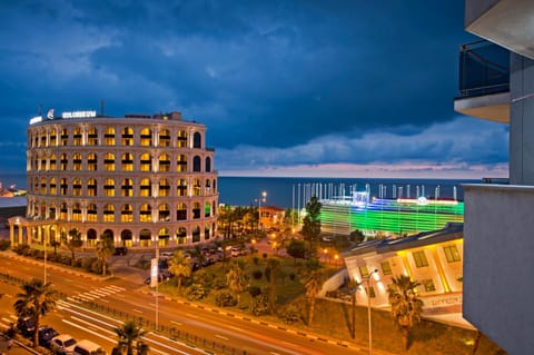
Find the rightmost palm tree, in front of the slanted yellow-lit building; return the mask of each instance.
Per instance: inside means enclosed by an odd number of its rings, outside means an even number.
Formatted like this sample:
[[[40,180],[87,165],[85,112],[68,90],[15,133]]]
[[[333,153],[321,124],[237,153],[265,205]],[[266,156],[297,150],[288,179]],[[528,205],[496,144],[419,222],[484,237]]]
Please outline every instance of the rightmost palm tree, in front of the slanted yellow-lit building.
[[[416,288],[421,284],[409,276],[393,277],[388,289],[392,315],[400,327],[405,348],[408,349],[409,329],[421,319],[423,300],[417,297]]]

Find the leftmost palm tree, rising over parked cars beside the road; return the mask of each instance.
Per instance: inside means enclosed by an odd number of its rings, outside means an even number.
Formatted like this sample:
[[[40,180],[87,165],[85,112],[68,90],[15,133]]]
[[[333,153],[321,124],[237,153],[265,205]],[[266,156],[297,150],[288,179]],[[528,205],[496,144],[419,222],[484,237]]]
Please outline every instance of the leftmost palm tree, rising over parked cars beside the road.
[[[36,326],[33,331],[33,347],[37,347],[38,329],[40,317],[56,309],[59,294],[51,288],[51,284],[43,284],[38,278],[32,278],[21,286],[22,293],[17,294],[17,300],[13,304],[17,315],[20,317],[30,317]]]

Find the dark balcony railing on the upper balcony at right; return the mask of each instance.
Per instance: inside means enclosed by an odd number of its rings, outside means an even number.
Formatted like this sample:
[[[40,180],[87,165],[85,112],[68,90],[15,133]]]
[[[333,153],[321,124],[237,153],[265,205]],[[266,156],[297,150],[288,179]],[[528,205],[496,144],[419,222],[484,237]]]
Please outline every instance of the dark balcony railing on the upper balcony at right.
[[[510,91],[510,51],[481,40],[459,47],[461,98]]]

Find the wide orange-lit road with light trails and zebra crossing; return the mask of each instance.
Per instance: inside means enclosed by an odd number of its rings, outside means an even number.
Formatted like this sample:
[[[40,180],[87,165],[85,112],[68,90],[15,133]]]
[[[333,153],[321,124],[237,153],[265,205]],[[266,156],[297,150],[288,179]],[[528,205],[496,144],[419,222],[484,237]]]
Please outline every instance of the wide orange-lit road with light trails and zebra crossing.
[[[0,273],[20,279],[43,277],[43,263],[0,253]],[[140,277],[108,278],[86,275],[47,265],[47,280],[66,295],[59,309],[47,315],[42,324],[75,338],[88,338],[110,354],[117,344],[115,327],[126,318],[142,322],[145,341],[151,354],[365,354],[349,344],[305,334],[220,308],[208,308],[184,300],[169,299],[140,283]],[[0,325],[16,322],[12,304],[18,286],[0,283]],[[156,310],[158,332],[155,333]],[[194,347],[192,347],[194,345]],[[380,354],[379,352],[375,352]]]

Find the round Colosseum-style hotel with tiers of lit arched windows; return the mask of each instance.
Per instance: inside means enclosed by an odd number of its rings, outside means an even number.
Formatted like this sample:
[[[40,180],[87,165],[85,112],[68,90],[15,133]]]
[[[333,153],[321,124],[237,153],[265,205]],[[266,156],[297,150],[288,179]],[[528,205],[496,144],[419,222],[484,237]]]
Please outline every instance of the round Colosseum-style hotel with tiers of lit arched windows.
[[[37,117],[27,155],[27,218],[12,220],[14,245],[65,238],[72,228],[88,247],[103,234],[141,248],[216,236],[214,149],[206,127],[180,112]]]

